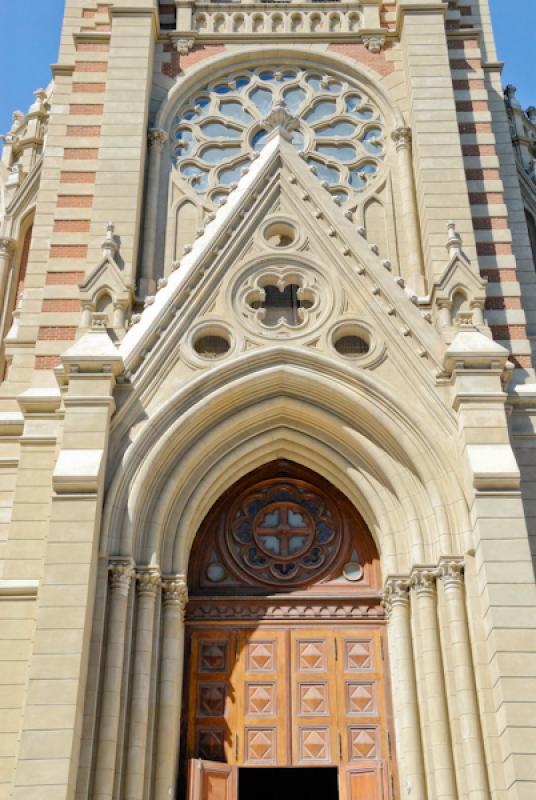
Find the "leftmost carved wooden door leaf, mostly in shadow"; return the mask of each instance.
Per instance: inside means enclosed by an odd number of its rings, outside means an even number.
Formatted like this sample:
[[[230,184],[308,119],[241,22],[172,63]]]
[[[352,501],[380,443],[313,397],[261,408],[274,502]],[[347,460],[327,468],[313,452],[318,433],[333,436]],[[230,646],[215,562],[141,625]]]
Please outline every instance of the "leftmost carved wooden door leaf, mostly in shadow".
[[[236,634],[226,628],[193,631],[190,647],[187,755],[233,764]]]

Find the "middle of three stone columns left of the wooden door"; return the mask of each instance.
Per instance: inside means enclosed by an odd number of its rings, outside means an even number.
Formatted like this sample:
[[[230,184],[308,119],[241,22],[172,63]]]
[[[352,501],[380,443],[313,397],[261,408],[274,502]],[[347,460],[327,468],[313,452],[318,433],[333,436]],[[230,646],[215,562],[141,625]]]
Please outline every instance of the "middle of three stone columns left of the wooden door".
[[[140,570],[136,574],[136,633],[125,800],[143,800],[145,756],[149,730],[155,602],[159,588],[160,575],[158,569],[148,568]]]

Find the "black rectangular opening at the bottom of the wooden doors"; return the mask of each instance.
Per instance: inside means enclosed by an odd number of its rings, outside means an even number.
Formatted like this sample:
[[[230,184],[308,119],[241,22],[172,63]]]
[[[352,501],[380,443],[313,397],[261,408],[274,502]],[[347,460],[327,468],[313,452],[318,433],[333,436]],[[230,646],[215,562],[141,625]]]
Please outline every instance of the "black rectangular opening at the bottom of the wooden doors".
[[[240,767],[238,800],[338,800],[337,767]]]

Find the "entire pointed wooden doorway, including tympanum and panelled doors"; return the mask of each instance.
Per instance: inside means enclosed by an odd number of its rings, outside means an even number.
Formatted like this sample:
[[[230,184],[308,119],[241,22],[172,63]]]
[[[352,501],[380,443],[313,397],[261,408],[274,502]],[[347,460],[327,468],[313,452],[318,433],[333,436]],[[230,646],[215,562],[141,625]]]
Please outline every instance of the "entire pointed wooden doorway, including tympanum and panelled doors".
[[[380,564],[350,502],[271,462],[211,509],[188,576],[181,797],[391,796]]]

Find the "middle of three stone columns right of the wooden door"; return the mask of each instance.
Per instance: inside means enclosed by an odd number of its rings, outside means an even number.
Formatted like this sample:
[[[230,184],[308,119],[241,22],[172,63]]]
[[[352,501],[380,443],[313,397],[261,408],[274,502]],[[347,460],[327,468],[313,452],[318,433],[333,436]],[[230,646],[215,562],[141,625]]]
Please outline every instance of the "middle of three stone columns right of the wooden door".
[[[431,737],[431,769],[435,787],[434,800],[458,800],[447,694],[443,673],[439,621],[437,616],[436,572],[413,571],[418,612],[419,649],[422,655],[424,706]]]

